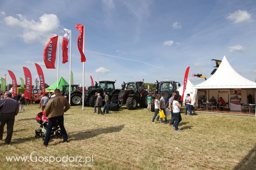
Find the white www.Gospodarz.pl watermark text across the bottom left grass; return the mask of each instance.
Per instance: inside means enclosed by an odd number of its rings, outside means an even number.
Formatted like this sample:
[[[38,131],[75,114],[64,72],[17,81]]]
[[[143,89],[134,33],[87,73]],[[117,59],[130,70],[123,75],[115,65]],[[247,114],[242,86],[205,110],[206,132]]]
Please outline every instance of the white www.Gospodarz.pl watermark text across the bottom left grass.
[[[36,151],[33,151],[30,153],[30,156],[6,156],[6,160],[7,162],[48,162],[48,163],[53,163],[53,162],[73,162],[73,163],[84,163],[84,164],[88,164],[88,163],[92,163],[93,162],[93,158],[96,155],[92,155],[92,156],[86,156],[86,157],[82,157],[82,156],[37,156],[36,155]],[[68,164],[67,164],[68,165]]]

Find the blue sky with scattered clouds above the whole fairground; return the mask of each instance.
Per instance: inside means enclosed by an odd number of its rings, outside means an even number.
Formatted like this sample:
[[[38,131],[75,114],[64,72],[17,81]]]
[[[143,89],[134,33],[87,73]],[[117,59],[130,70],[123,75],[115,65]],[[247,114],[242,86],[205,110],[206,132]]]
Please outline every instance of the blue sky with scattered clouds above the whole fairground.
[[[74,83],[82,84],[75,28],[82,24],[85,83],[90,84],[90,75],[95,81],[116,79],[117,87],[142,78],[148,83],[167,79],[183,83],[190,66],[189,79],[196,85],[204,79],[192,74],[209,78],[215,65],[211,59],[221,60],[224,55],[238,73],[255,81],[255,14],[255,1],[3,0],[0,74],[12,70],[20,84],[22,67],[28,67],[34,77],[36,62],[45,82],[55,82],[57,70],[46,69],[43,50],[50,37],[63,35],[67,28],[72,30]],[[60,60],[60,75],[68,80],[68,74],[69,63]]]

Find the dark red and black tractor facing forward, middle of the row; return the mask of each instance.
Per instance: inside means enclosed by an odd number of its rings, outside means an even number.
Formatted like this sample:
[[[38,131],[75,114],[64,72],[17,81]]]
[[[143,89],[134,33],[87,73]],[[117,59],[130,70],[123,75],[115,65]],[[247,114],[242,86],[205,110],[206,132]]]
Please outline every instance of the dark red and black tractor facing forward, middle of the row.
[[[142,81],[123,83],[122,91],[118,94],[118,104],[120,107],[125,104],[128,110],[136,109],[138,103],[145,108],[148,106],[147,96]]]

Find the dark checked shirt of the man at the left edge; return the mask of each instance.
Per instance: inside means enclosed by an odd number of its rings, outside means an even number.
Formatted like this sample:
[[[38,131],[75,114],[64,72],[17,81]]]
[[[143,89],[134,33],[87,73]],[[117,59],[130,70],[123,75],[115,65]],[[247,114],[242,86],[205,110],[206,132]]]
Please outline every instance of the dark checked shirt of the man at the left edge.
[[[0,101],[0,113],[19,113],[20,103],[12,98],[6,98]]]

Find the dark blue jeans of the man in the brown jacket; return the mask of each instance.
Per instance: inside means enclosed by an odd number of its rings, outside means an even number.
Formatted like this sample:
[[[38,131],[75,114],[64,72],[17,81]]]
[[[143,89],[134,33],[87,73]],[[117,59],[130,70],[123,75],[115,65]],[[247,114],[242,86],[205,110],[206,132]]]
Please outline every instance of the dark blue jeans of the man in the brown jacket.
[[[57,117],[51,117],[48,119],[48,127],[47,127],[47,131],[45,134],[45,139],[44,139],[44,145],[48,145],[48,142],[50,141],[50,137],[51,137],[51,131],[53,126],[55,125],[55,122],[58,121],[59,126],[60,126],[60,131],[61,134],[63,136],[63,140],[67,141],[68,140],[68,134],[66,132],[66,129],[64,127],[64,116],[57,116]]]

